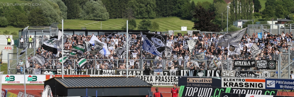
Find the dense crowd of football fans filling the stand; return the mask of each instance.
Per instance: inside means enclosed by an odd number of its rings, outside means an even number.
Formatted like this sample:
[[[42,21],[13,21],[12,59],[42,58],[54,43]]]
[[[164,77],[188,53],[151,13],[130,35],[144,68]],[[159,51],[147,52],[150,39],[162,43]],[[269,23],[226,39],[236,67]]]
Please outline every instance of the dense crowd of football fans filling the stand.
[[[161,32],[155,32],[161,33]],[[92,34],[94,35],[94,34]],[[69,36],[67,42],[64,44],[64,50],[71,51],[73,45],[83,44],[83,41],[90,41],[92,35],[84,36],[84,35],[72,35]],[[167,34],[165,34],[167,35]],[[44,50],[41,46],[36,50],[36,54],[45,56],[47,61],[45,64],[40,66],[35,61],[32,60],[32,56],[28,57],[28,60],[22,64],[17,66],[19,68],[40,68],[40,69],[178,69],[178,70],[211,70],[212,67],[209,66],[211,61],[200,61],[199,55],[200,53],[205,53],[203,56],[205,60],[277,60],[279,53],[288,53],[289,46],[293,46],[292,40],[293,34],[290,32],[289,34],[282,32],[281,35],[271,35],[270,33],[264,32],[262,34],[262,38],[258,38],[257,33],[253,33],[251,36],[248,34],[244,34],[242,40],[240,41],[240,55],[228,55],[227,47],[217,46],[217,42],[220,37],[223,36],[222,33],[212,33],[212,34],[182,34],[175,33],[175,35],[167,35],[167,41],[172,42],[172,54],[171,55],[163,55],[163,56],[155,56],[151,53],[145,52],[142,48],[140,48],[140,44],[142,44],[140,35],[131,34],[130,35],[130,48],[128,52],[128,57],[126,55],[119,55],[114,52],[115,49],[119,47],[123,47],[126,44],[127,35],[119,35],[115,34],[112,37],[99,35],[96,36],[101,42],[107,44],[108,50],[111,52],[111,55],[102,55],[100,53],[96,53],[92,55],[89,51],[85,52],[83,55],[74,55],[68,56],[69,60],[64,62],[63,66],[61,66],[61,62],[58,58],[61,56],[61,52],[58,54],[52,54],[50,51]],[[191,39],[198,40],[193,52],[190,52],[189,48],[187,48],[187,41]],[[45,40],[44,40],[45,41]],[[261,49],[261,53],[253,56],[251,54],[250,47],[253,44],[257,44]],[[142,49],[142,50],[140,50]],[[87,60],[87,65],[84,68],[80,68],[77,62],[77,59],[80,57],[85,57]],[[126,58],[128,58],[128,67],[126,66]],[[292,58],[291,58],[292,59]],[[198,60],[199,67],[193,65],[191,60]],[[142,65],[140,65],[142,64]],[[220,67],[220,66],[216,66]],[[215,67],[214,67],[215,68]],[[217,68],[221,69],[221,68]],[[21,71],[17,71],[21,73]]]

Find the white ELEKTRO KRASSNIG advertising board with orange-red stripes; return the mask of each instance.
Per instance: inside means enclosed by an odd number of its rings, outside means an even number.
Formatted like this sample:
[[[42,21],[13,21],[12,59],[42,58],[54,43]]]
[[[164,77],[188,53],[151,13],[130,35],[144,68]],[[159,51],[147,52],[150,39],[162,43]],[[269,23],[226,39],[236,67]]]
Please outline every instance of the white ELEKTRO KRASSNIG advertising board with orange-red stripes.
[[[221,78],[221,87],[265,89],[264,78]]]

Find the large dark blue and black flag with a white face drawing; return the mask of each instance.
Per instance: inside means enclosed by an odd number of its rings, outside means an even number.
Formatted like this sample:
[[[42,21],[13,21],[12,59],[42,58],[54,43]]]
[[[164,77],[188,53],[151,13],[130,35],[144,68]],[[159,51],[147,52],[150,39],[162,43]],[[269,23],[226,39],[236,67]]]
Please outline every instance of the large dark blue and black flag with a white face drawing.
[[[141,36],[143,40],[143,50],[156,56],[163,56],[167,40],[166,35],[141,32]]]

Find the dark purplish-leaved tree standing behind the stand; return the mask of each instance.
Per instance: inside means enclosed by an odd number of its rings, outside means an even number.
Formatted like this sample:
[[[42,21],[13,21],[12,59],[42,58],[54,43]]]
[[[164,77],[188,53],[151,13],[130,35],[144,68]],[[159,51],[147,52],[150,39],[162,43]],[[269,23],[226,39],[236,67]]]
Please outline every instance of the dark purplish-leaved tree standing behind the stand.
[[[199,6],[199,8],[195,9],[194,13],[193,17],[197,19],[197,21],[194,22],[194,27],[192,29],[208,32],[220,31],[218,25],[211,22],[215,18],[214,12],[209,12],[209,10],[205,10],[202,6]]]

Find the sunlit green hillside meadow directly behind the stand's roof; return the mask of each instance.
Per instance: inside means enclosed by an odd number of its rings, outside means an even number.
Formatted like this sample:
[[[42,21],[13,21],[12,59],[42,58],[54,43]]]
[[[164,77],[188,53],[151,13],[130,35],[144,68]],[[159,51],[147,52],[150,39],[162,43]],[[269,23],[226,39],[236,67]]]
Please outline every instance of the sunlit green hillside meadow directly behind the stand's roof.
[[[142,19],[136,19],[137,24],[140,21]],[[192,21],[182,20],[178,17],[151,19],[151,21],[156,21],[159,24],[158,31],[181,30],[181,26],[187,26],[187,30],[191,30],[194,25]],[[126,19],[108,19],[106,21],[67,19],[64,20],[64,29],[81,29],[82,27],[86,27],[86,29],[97,30],[101,29],[101,22],[102,30],[121,30],[121,27],[126,23]],[[61,24],[58,24],[58,28],[61,28]]]

